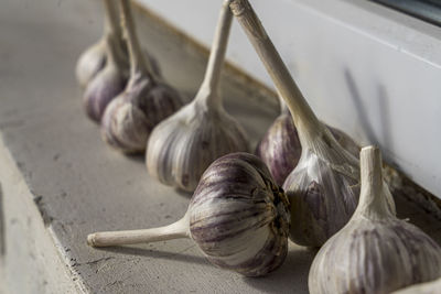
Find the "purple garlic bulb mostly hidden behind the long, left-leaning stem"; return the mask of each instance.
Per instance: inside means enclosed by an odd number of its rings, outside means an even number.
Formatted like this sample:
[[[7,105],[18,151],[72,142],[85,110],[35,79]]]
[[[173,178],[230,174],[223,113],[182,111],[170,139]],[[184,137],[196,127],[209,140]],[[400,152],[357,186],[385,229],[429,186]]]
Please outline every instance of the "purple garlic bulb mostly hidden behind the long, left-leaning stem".
[[[292,117],[283,99],[280,99],[281,113],[265,133],[256,148],[256,154],[263,160],[271,171],[278,185],[283,185],[284,179],[297,166],[302,146]],[[358,156],[358,145],[344,132],[326,126],[335,140],[351,154]]]

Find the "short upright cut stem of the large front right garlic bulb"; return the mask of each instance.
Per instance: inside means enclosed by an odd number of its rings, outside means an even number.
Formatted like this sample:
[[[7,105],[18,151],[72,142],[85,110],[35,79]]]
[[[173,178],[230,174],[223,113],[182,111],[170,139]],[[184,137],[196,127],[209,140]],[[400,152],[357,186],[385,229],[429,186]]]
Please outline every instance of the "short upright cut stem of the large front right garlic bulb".
[[[361,152],[362,190],[354,217],[379,220],[394,217],[384,194],[381,153],[377,146],[366,146]]]

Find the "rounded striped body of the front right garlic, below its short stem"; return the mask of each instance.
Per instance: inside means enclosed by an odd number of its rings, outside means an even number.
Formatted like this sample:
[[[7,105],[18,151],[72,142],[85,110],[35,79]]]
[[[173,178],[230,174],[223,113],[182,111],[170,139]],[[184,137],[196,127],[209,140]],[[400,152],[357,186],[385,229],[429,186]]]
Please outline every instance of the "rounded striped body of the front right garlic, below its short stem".
[[[441,275],[441,249],[405,220],[356,219],[319,251],[310,293],[378,293]]]

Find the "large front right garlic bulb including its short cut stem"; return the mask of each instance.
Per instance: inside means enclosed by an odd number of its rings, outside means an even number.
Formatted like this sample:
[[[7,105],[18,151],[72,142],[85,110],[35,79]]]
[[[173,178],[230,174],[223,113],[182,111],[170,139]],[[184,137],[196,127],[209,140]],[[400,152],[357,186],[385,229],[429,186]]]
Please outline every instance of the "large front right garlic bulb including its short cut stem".
[[[316,254],[309,274],[311,294],[386,294],[441,276],[441,247],[389,208],[378,148],[364,148],[361,164],[357,209]]]

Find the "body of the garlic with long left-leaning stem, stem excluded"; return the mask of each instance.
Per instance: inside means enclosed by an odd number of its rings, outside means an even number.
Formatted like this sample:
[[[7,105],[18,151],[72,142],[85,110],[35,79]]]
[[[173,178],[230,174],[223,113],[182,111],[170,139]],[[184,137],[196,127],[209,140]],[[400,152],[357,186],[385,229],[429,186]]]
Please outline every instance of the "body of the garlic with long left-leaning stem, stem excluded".
[[[358,173],[338,173],[330,162],[304,150],[283,189],[291,203],[290,239],[320,247],[343,228],[358,203]],[[320,172],[319,172],[320,171]]]

